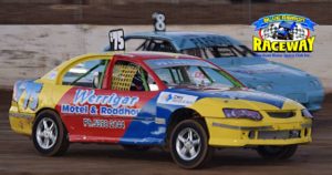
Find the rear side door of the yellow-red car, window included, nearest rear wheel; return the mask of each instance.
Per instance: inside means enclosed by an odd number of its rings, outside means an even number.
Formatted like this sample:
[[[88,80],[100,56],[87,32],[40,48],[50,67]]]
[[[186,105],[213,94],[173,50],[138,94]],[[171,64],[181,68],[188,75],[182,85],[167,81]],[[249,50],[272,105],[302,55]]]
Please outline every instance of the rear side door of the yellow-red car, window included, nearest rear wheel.
[[[124,123],[100,115],[100,106],[110,92],[102,89],[102,80],[110,63],[108,59],[77,62],[64,72],[59,89],[69,89],[56,104],[66,126],[71,142],[112,142],[114,132]],[[103,99],[101,99],[103,97]]]

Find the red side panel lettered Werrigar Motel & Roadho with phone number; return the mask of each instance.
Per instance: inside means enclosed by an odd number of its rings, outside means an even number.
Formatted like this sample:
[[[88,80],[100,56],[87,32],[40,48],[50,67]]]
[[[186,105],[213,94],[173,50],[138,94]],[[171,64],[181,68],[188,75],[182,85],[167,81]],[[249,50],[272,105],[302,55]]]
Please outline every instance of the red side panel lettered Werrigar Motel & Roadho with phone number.
[[[122,97],[123,103],[118,106],[112,105],[112,103],[103,103],[106,101],[80,101],[82,103],[74,104],[75,95],[80,94],[76,91],[94,91],[95,96],[117,96]],[[158,92],[129,92],[129,91],[112,91],[112,90],[92,90],[84,87],[72,87],[68,91],[60,102],[56,105],[56,111],[60,112],[61,119],[64,125],[68,128],[70,141],[71,142],[108,142],[108,143],[117,143],[120,138],[125,134],[126,130],[129,127],[129,124],[135,115],[125,114],[113,114],[105,113],[107,112],[138,112],[143,105],[154,97]],[[115,94],[115,95],[114,95]],[[126,101],[124,96],[128,96],[128,99],[133,100]],[[135,97],[138,97],[137,102],[134,101]],[[96,100],[97,97],[92,97],[92,100]],[[92,103],[91,103],[92,102]],[[136,102],[136,103],[134,103]],[[125,105],[125,104],[134,104],[134,105]],[[66,107],[71,106],[71,107]],[[91,109],[95,106],[97,112],[91,113]],[[66,110],[64,110],[66,109]],[[75,109],[73,113],[69,113],[68,109]],[[101,111],[102,109],[103,112]],[[107,110],[105,110],[107,109]],[[115,110],[114,110],[115,109]],[[126,109],[126,110],[121,110]],[[102,115],[104,114],[104,115]],[[105,115],[107,114],[107,115]],[[137,113],[135,113],[137,114]]]

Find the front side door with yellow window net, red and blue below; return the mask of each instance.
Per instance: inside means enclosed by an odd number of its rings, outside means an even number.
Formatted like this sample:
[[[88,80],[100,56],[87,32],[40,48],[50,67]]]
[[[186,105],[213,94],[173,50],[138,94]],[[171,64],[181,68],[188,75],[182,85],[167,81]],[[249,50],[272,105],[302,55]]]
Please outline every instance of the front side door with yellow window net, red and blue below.
[[[102,109],[102,115],[117,119],[125,124],[115,135],[122,144],[151,142],[149,132],[155,128],[156,97],[159,87],[152,74],[139,61],[114,56],[108,70],[108,89],[121,100],[115,105]],[[115,103],[115,102],[112,102]]]

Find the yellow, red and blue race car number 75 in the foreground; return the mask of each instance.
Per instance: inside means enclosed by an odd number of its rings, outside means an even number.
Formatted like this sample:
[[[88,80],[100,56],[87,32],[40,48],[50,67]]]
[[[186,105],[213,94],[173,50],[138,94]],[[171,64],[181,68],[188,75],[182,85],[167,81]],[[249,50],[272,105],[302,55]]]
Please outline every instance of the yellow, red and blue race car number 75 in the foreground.
[[[18,81],[11,128],[45,156],[70,143],[166,147],[198,168],[216,147],[251,147],[268,159],[311,142],[311,113],[298,102],[249,90],[199,58],[155,52],[85,54],[35,80]]]

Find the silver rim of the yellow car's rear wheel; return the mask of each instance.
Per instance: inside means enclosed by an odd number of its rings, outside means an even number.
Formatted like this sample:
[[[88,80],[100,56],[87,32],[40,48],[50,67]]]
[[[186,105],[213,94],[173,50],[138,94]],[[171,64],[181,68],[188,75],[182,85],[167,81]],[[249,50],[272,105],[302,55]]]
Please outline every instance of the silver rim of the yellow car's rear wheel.
[[[58,138],[58,126],[52,119],[42,119],[35,132],[35,138],[40,147],[49,150],[56,143]]]

